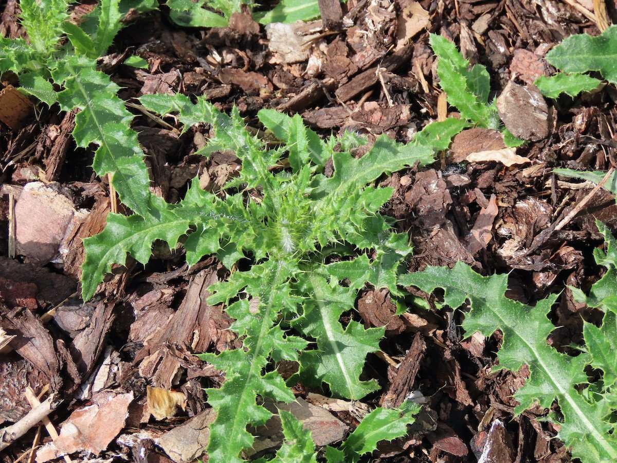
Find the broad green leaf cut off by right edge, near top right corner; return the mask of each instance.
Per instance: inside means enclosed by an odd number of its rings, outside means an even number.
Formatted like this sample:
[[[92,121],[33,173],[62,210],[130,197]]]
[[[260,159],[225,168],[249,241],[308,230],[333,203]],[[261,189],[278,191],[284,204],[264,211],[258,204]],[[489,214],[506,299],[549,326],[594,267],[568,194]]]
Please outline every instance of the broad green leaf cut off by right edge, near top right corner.
[[[549,51],[546,60],[564,72],[599,71],[610,83],[617,83],[617,26],[596,37],[571,35]]]

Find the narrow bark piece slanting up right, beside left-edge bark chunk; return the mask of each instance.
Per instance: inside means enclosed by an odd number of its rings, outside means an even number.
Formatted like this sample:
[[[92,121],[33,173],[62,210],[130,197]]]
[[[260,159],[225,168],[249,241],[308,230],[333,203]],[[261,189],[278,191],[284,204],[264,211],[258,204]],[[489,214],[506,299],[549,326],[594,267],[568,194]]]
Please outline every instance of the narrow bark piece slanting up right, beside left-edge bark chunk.
[[[82,377],[88,376],[104,349],[105,336],[114,322],[114,302],[99,302],[88,328],[83,330],[69,346]]]

